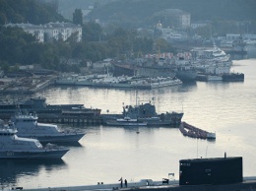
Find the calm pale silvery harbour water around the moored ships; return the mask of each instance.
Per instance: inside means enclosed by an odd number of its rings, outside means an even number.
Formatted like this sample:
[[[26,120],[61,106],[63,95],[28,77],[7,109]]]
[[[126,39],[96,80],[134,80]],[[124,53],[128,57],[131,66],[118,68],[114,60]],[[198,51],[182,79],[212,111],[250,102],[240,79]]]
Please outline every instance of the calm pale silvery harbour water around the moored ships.
[[[48,103],[84,103],[102,113],[121,113],[122,105],[152,100],[158,112],[183,110],[183,121],[216,132],[214,142],[196,140],[176,128],[80,126],[87,134],[58,161],[1,160],[2,187],[25,188],[117,183],[170,172],[178,179],[179,159],[243,157],[243,175],[256,171],[256,59],[234,60],[242,83],[205,83],[152,91],[52,87],[37,94]],[[136,96],[138,95],[138,96]],[[137,98],[136,98],[137,97]],[[154,97],[154,99],[152,99]],[[64,126],[65,128],[65,126]],[[137,131],[140,131],[137,134]],[[1,189],[1,188],[0,188]]]

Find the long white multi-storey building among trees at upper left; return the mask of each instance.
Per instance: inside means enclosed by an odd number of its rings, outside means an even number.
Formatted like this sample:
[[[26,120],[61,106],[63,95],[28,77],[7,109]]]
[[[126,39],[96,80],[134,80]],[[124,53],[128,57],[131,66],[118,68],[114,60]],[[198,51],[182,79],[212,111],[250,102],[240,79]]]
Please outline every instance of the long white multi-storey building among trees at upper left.
[[[44,42],[50,39],[62,39],[66,41],[71,34],[77,32],[77,41],[82,41],[82,27],[71,23],[48,23],[45,25],[32,24],[7,24],[6,28],[22,28],[25,32],[31,33],[38,42]]]

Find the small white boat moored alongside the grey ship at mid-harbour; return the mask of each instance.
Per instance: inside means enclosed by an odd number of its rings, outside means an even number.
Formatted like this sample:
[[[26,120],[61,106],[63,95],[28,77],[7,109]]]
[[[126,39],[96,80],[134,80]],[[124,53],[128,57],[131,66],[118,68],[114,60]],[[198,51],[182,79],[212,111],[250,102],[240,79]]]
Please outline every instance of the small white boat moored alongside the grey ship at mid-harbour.
[[[132,119],[130,117],[109,120],[106,121],[106,124],[111,126],[147,126],[147,122],[141,122],[137,119]]]

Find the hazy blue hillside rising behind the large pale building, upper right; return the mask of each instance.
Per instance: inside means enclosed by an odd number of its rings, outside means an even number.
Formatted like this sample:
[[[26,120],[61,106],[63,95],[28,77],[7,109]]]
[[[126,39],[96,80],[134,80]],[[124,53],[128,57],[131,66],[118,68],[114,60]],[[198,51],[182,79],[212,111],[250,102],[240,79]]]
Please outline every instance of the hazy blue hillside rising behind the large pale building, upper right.
[[[184,10],[192,21],[256,21],[255,0],[120,0],[97,7],[90,18],[140,27],[149,25],[154,13],[163,9]]]

